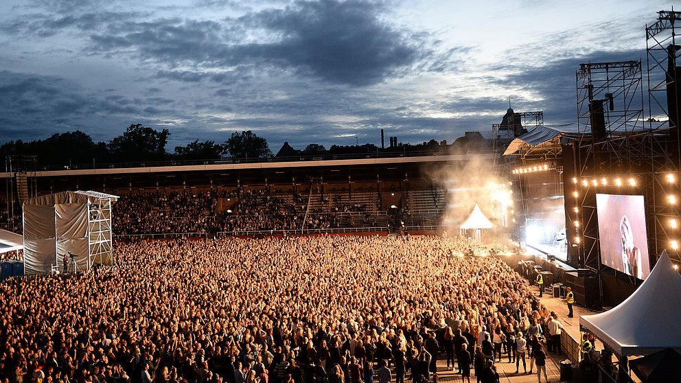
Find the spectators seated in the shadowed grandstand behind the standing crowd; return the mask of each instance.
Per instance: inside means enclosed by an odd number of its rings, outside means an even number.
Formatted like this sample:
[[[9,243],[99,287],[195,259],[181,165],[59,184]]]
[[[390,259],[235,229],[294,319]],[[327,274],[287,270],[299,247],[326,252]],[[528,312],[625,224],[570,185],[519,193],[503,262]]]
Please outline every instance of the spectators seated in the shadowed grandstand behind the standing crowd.
[[[220,198],[233,198],[233,209],[218,209]],[[318,197],[319,198],[319,197]],[[334,201],[336,199],[334,198]],[[343,220],[342,213],[365,210],[338,202],[308,210],[307,196],[241,191],[172,191],[169,194],[128,194],[113,205],[113,232],[118,235],[168,233],[214,234],[242,231],[337,229],[375,222],[375,217]],[[305,221],[305,224],[303,224]]]

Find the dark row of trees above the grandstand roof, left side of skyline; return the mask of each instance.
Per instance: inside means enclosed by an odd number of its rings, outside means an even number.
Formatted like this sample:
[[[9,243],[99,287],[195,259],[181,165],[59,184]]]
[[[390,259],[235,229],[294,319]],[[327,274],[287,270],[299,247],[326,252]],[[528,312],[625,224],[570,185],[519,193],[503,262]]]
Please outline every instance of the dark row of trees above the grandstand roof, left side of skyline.
[[[23,158],[35,156],[36,164],[76,165],[87,163],[124,163],[154,162],[169,160],[213,160],[222,156],[235,158],[257,158],[271,156],[267,140],[258,137],[251,130],[233,132],[224,143],[199,141],[196,139],[186,146],[176,146],[173,153],[166,152],[170,131],[155,130],[132,124],[128,129],[111,141],[95,143],[92,137],[76,130],[75,132],[55,133],[47,139],[34,141],[10,141],[0,146],[0,155]]]

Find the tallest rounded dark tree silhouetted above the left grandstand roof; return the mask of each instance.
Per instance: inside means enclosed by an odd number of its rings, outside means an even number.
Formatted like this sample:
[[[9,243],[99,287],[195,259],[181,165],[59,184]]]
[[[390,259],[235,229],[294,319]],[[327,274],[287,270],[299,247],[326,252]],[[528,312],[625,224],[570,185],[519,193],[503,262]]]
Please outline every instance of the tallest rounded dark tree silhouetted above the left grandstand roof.
[[[168,137],[168,129],[159,132],[142,124],[132,124],[123,135],[112,139],[108,148],[114,161],[163,161],[168,156],[165,152]]]

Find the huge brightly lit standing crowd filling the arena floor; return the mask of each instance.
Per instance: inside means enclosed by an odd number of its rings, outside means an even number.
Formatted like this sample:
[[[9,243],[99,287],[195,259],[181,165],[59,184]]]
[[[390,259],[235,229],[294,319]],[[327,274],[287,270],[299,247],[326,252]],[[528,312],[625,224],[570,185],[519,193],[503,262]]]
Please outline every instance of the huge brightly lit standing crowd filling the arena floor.
[[[540,371],[551,314],[502,260],[461,255],[471,246],[118,243],[115,266],[0,283],[0,382],[423,383],[446,358],[485,383],[502,357],[525,367],[526,350]]]

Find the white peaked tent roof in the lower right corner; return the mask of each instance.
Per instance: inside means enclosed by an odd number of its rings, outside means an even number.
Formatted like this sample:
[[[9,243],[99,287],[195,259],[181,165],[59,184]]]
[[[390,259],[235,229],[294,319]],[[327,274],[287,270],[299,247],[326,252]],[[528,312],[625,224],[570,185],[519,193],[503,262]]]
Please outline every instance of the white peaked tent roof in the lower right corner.
[[[634,294],[611,310],[580,316],[579,325],[619,356],[648,355],[667,348],[681,351],[680,313],[681,275],[663,251]]]

